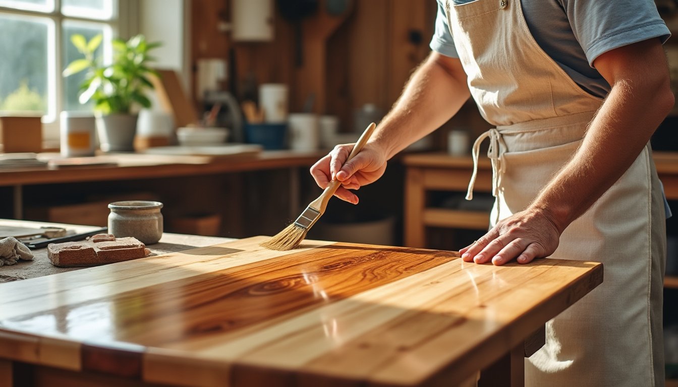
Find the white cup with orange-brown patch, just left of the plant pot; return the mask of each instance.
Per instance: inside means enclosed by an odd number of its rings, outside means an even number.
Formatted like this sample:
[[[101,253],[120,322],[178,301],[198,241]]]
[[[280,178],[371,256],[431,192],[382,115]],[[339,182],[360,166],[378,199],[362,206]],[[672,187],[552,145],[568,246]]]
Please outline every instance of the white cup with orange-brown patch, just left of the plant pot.
[[[96,124],[93,115],[64,111],[60,114],[59,123],[63,157],[94,156]]]

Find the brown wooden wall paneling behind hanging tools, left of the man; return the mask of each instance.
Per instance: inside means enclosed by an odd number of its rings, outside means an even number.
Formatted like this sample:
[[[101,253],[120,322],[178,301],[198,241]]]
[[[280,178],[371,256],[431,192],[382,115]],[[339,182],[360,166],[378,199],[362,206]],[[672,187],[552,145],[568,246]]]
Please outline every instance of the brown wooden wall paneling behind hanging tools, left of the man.
[[[275,13],[273,42],[232,42],[220,30],[230,1],[195,0],[192,9],[192,57],[224,58],[235,47],[237,98],[254,98],[261,83],[290,85],[290,111],[302,110],[315,92],[314,111],[338,115],[344,131],[353,131],[353,111],[373,103],[386,113],[412,69],[428,54],[435,3],[416,0],[353,1],[339,17],[319,12],[304,20],[304,65],[294,64],[294,26]],[[422,33],[410,43],[410,30]],[[232,65],[232,64],[229,64]],[[195,73],[192,96],[195,96]],[[348,130],[346,130],[348,128]]]

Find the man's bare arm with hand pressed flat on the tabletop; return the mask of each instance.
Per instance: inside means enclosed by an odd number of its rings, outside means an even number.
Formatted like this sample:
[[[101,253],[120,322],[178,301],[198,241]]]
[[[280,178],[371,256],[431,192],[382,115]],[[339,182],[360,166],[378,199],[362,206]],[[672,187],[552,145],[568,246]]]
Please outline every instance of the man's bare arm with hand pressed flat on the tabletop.
[[[466,262],[500,265],[549,256],[563,230],[616,182],[674,104],[659,39],[601,54],[595,68],[612,85],[573,159],[533,203],[460,252]]]

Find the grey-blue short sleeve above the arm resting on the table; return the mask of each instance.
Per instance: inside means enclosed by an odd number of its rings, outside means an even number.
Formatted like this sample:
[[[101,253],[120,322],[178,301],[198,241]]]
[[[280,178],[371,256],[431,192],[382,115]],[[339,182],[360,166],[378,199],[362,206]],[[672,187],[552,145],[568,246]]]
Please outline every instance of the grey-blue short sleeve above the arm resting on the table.
[[[649,0],[561,0],[589,66],[612,49],[652,38],[662,43],[671,32]]]

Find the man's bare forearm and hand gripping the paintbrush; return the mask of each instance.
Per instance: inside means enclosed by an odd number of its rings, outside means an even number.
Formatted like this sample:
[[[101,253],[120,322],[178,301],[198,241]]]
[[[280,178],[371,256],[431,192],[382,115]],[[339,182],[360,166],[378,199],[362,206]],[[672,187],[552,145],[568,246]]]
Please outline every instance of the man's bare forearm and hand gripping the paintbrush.
[[[372,139],[344,164],[353,144],[338,145],[311,167],[321,188],[336,178],[343,182],[334,194],[351,203],[357,189],[384,174],[386,161],[412,142],[431,133],[455,115],[468,100],[466,73],[458,58],[432,52],[414,71],[391,112],[379,123]]]

